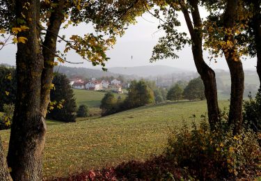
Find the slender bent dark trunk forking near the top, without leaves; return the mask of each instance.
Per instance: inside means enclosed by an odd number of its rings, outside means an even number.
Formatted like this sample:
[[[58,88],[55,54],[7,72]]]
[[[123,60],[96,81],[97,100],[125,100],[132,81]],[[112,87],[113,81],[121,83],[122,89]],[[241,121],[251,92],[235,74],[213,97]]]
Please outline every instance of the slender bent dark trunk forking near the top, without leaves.
[[[184,1],[180,1],[180,3],[184,4]],[[182,13],[184,14],[189,33],[191,35],[194,63],[205,86],[205,97],[207,100],[207,115],[209,118],[209,125],[210,128],[214,130],[216,123],[219,122],[219,103],[216,89],[216,77],[214,70],[212,70],[212,68],[209,68],[203,58],[203,36],[201,31],[202,22],[198,10],[198,1],[189,1],[189,3],[193,8],[193,10],[191,10],[193,24],[191,22],[189,12],[186,7],[182,8]]]

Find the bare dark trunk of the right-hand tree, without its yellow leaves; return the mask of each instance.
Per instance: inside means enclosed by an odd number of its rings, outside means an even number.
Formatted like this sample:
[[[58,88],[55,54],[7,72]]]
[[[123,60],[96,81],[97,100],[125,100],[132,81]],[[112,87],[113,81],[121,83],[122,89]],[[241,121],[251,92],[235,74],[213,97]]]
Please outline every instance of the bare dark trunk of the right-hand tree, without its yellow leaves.
[[[224,13],[224,28],[232,32],[237,19],[238,0],[228,0],[226,11]],[[233,32],[226,35],[224,41],[235,43]],[[231,95],[230,95],[230,111],[228,123],[233,126],[234,134],[237,134],[242,129],[242,106],[244,94],[244,70],[242,62],[239,60],[235,47],[224,48],[223,52],[228,63],[231,77]]]

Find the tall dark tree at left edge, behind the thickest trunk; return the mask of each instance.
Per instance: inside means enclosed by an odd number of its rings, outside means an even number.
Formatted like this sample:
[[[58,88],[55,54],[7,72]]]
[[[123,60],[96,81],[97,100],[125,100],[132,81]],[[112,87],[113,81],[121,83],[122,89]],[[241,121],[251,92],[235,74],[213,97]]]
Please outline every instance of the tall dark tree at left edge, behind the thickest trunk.
[[[15,104],[16,77],[14,68],[0,66],[0,111],[3,104]]]

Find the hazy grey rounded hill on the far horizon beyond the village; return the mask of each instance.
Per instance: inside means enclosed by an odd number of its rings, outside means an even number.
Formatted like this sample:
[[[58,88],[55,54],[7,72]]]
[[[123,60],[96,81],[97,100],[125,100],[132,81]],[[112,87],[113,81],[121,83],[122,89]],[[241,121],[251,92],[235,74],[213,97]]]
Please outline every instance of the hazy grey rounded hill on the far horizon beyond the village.
[[[148,66],[136,66],[136,67],[115,67],[108,68],[109,72],[116,74],[136,75],[139,77],[150,77],[163,74],[173,74],[182,72],[191,72],[180,68],[174,68],[166,65],[148,65]]]

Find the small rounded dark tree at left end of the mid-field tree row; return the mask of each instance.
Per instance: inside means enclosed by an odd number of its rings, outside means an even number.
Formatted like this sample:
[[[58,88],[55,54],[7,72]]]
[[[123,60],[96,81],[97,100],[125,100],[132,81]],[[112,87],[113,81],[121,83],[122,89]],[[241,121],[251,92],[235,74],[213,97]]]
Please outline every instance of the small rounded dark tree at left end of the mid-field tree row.
[[[113,93],[106,93],[102,98],[100,109],[102,109],[102,115],[108,115],[116,112],[116,98]]]

